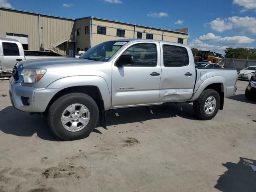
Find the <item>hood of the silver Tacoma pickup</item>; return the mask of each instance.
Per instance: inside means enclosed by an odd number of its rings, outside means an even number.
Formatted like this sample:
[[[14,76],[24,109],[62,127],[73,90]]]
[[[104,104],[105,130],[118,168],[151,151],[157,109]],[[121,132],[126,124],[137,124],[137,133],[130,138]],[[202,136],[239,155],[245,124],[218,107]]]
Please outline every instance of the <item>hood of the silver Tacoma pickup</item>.
[[[31,59],[19,62],[18,65],[22,64],[24,68],[52,68],[60,65],[76,65],[76,64],[93,64],[100,63],[82,58],[44,58],[44,59]]]

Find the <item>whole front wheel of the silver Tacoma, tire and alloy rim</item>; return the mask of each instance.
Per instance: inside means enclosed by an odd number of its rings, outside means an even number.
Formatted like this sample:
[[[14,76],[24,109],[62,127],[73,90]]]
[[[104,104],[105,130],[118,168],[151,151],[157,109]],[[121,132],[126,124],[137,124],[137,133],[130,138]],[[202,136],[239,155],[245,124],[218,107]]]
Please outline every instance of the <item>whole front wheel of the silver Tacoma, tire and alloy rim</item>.
[[[98,123],[96,102],[87,94],[70,93],[58,98],[49,108],[48,124],[62,140],[86,138]]]

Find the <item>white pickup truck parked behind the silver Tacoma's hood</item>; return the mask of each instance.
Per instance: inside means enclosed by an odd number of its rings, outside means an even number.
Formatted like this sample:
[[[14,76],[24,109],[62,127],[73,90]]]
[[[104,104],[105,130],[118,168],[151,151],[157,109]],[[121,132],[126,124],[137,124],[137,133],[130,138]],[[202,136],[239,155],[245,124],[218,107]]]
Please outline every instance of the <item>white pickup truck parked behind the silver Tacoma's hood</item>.
[[[0,78],[11,76],[17,61],[64,57],[48,51],[23,50],[22,44],[15,39],[0,37]]]

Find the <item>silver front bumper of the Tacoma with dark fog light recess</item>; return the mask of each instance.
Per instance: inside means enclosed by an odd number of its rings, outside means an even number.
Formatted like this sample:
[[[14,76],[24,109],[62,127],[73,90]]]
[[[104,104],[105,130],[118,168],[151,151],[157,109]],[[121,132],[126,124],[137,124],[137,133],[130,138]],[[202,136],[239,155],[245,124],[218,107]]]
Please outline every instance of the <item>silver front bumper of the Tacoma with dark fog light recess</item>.
[[[52,97],[62,89],[35,88],[14,83],[10,78],[10,99],[14,108],[25,112],[44,112]],[[24,104],[26,98],[28,103]]]

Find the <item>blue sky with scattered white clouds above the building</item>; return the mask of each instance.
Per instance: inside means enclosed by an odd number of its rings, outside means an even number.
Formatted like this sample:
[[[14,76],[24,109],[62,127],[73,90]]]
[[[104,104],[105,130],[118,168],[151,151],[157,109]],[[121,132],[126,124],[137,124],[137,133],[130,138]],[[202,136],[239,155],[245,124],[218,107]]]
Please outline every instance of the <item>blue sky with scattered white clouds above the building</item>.
[[[159,28],[188,27],[188,44],[200,50],[256,48],[256,0],[0,0],[0,6],[68,18],[95,16]]]

